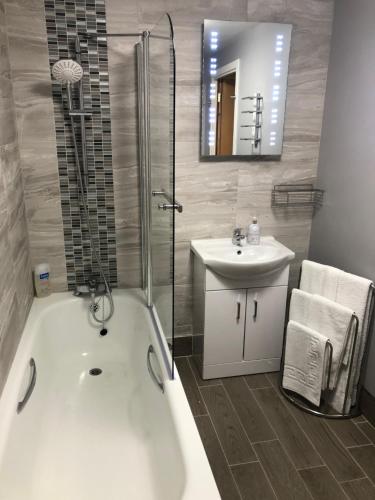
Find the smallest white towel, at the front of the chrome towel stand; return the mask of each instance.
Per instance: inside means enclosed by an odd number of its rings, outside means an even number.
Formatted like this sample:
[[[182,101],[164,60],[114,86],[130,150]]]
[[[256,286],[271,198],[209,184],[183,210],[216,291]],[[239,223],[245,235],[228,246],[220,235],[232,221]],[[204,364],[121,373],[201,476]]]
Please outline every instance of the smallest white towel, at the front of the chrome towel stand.
[[[319,406],[328,339],[296,321],[289,321],[286,335],[282,385]]]

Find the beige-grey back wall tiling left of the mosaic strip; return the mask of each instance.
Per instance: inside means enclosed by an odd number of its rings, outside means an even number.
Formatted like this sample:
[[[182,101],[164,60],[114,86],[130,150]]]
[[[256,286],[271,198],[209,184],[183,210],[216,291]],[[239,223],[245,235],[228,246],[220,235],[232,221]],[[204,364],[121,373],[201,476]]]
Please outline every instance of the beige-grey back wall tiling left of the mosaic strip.
[[[67,288],[56,133],[43,0],[5,0],[32,265]],[[32,22],[30,22],[32,20]]]

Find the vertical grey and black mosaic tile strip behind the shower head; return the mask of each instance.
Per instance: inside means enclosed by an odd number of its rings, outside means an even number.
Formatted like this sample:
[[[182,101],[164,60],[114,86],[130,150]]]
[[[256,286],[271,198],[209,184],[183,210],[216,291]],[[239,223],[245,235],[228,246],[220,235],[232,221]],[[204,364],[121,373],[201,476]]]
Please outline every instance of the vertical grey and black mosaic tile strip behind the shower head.
[[[106,33],[104,0],[45,0],[49,61],[76,59],[79,36],[84,70],[84,108],[88,162],[88,206],[95,248],[112,286],[117,285],[115,209],[112,172],[111,118],[109,105],[108,54],[105,38],[90,34]],[[57,157],[64,225],[65,256],[69,289],[83,284],[99,270],[92,255],[89,233],[80,203],[73,136],[67,111],[66,90],[52,83]],[[79,108],[77,85],[73,98]],[[64,103],[64,104],[63,104]],[[80,121],[76,137],[81,148]]]

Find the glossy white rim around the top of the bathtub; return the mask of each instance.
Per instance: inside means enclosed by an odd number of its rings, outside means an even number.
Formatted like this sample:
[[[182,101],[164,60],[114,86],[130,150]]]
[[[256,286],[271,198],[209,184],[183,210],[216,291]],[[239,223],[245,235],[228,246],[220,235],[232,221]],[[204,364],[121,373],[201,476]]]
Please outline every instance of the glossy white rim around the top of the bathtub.
[[[114,296],[123,294],[137,297],[143,301],[144,294],[139,289],[116,289],[113,291]],[[4,385],[3,392],[0,396],[0,463],[2,463],[5,447],[7,444],[7,436],[10,431],[10,426],[14,417],[17,417],[16,407],[21,391],[22,381],[24,378],[24,369],[27,365],[30,352],[32,351],[33,342],[37,334],[37,325],[43,316],[51,309],[59,304],[75,303],[82,299],[74,297],[71,292],[53,293],[49,297],[43,299],[34,298],[29,316],[24,326],[21,340],[17,347],[16,354],[12,361],[12,365]],[[171,416],[174,422],[178,445],[181,450],[181,459],[184,466],[185,484],[184,491],[180,500],[195,500],[197,498],[205,498],[205,500],[220,500],[220,495],[214,480],[206,452],[199,436],[198,429],[195,424],[194,417],[190,411],[189,403],[180,380],[176,366],[174,367],[174,380],[170,379],[168,370],[163,362],[162,347],[160,339],[154,329],[151,314],[147,311],[145,304],[145,316],[149,324],[149,338],[147,343],[154,346],[155,354],[160,367],[164,383],[164,394]],[[165,344],[167,341],[164,339]],[[145,352],[145,363],[146,363]],[[155,385],[155,390],[158,387]]]

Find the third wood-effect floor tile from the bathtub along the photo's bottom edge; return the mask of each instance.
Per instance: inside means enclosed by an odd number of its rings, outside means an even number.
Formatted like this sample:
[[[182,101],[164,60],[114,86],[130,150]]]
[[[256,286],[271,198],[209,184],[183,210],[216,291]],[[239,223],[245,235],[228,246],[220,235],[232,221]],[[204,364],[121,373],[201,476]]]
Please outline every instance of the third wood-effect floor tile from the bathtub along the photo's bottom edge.
[[[279,500],[311,500],[311,495],[279,441],[254,445]]]

